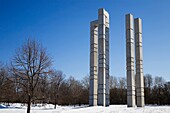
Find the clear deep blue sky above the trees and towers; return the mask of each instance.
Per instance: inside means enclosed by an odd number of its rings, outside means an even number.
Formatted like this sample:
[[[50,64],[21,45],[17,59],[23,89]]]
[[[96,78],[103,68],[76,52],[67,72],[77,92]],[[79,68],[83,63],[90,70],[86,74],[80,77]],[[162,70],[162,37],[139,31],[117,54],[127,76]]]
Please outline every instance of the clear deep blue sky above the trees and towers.
[[[110,14],[110,74],[126,76],[125,14],[143,21],[144,74],[170,81],[170,0],[0,0],[0,61],[8,63],[28,38],[40,41],[54,67],[89,74],[90,21]]]

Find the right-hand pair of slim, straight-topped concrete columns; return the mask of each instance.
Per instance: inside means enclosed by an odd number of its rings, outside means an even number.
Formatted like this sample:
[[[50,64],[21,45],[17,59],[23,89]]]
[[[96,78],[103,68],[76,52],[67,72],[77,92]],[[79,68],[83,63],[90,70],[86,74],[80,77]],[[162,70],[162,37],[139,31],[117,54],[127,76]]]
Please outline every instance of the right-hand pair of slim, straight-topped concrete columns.
[[[135,27],[135,33],[133,27]],[[134,76],[134,48],[136,76]],[[131,14],[126,15],[126,72],[127,106],[135,107],[137,104],[137,107],[144,107],[142,20],[140,18],[134,19]],[[137,100],[135,100],[135,95]]]

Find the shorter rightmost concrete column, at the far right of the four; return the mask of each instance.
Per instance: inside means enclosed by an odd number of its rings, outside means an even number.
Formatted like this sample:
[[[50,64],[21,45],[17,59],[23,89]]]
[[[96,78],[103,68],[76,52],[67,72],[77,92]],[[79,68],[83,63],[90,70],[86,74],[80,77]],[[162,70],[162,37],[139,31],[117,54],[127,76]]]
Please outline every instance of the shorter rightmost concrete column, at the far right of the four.
[[[142,20],[135,19],[135,58],[136,58],[136,96],[137,106],[144,107],[144,77],[142,52]]]

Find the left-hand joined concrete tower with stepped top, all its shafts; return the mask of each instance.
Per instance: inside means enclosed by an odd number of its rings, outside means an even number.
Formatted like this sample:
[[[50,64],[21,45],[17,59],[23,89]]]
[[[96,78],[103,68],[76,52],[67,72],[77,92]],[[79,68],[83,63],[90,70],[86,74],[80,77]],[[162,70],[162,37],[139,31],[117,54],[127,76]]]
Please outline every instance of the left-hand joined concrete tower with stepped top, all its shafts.
[[[98,10],[98,20],[90,23],[89,105],[109,106],[109,14]]]

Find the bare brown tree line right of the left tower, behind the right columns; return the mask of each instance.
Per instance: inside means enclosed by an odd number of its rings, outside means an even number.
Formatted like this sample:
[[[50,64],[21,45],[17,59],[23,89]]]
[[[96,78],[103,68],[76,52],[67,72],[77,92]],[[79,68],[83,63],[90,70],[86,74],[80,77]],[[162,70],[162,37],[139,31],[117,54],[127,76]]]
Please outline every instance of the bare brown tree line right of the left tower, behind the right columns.
[[[161,76],[144,76],[145,104],[170,105],[170,82]],[[127,104],[126,78],[110,77],[110,103]]]

